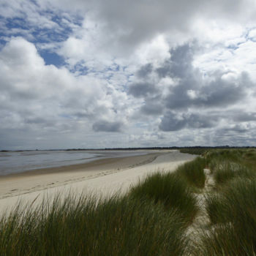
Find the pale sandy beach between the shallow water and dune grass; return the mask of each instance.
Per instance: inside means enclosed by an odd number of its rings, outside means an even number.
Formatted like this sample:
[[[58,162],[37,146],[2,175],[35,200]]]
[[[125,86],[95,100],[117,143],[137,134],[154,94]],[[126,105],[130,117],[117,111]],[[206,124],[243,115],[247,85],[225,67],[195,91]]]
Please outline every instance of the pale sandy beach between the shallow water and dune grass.
[[[45,195],[67,195],[70,191],[110,195],[125,192],[140,178],[156,170],[175,170],[195,156],[179,151],[151,150],[135,157],[99,159],[79,165],[32,170],[0,177],[0,211],[21,200],[29,203]]]

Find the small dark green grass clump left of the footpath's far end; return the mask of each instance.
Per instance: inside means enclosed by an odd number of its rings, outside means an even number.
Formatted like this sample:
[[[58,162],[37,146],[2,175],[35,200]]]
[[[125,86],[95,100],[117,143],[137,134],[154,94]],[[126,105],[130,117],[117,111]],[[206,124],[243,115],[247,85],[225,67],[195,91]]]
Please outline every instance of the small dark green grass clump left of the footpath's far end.
[[[205,158],[197,157],[196,159],[179,166],[177,173],[178,175],[183,176],[188,181],[189,185],[203,189],[206,183],[206,174],[203,169],[206,167],[207,163]]]

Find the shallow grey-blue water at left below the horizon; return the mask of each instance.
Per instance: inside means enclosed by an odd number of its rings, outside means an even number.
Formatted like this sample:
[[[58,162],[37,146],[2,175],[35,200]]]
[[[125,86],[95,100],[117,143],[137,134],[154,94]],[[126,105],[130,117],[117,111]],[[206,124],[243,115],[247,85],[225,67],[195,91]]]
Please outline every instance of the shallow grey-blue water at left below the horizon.
[[[0,152],[0,176],[45,167],[59,167],[110,157],[132,157],[146,151],[19,151]]]

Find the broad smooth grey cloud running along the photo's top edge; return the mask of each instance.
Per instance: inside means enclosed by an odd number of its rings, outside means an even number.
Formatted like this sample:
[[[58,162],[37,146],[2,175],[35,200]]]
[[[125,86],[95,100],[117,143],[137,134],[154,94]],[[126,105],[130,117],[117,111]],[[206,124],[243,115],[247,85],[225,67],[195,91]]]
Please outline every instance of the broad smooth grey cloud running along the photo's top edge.
[[[97,38],[105,49],[118,55],[129,56],[144,42],[159,34],[171,34],[170,42],[182,43],[198,34],[198,22],[225,20],[246,23],[255,20],[255,1],[117,1],[108,2],[55,0],[49,4],[66,10],[80,10],[86,19],[97,23]],[[90,21],[89,21],[90,22]],[[99,43],[99,40],[97,43]],[[100,42],[101,44],[101,42]]]

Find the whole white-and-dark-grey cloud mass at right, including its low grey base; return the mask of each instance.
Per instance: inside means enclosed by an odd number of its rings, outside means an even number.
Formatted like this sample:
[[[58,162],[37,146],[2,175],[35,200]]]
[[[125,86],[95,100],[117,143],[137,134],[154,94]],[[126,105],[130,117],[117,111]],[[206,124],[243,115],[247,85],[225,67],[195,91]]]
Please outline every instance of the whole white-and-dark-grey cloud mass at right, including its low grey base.
[[[244,111],[240,115],[233,109],[252,100],[249,94],[255,83],[249,74],[221,69],[205,74],[194,66],[197,49],[198,42],[170,48],[170,58],[162,65],[148,63],[138,69],[138,82],[128,89],[133,97],[143,99],[138,116],[159,118],[159,130],[164,132],[221,130],[227,121],[234,127],[239,121],[255,121],[255,115],[246,109],[240,109]]]

